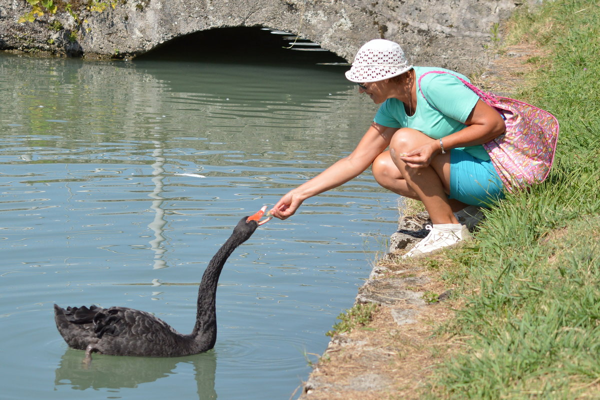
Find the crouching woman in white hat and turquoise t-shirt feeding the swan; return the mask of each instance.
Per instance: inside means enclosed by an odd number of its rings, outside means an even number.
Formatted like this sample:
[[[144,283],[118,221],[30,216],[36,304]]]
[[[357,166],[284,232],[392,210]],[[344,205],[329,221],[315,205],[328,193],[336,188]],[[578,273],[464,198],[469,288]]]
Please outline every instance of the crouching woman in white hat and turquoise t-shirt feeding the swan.
[[[382,187],[421,200],[430,215],[430,233],[405,257],[468,239],[453,212],[502,199],[502,181],[482,143],[504,133],[505,125],[456,76],[430,72],[440,70],[448,71],[408,65],[400,46],[389,40],[362,46],[346,78],[381,104],[373,124],[352,154],[289,191],[271,214],[286,219],[302,201],[371,166]]]

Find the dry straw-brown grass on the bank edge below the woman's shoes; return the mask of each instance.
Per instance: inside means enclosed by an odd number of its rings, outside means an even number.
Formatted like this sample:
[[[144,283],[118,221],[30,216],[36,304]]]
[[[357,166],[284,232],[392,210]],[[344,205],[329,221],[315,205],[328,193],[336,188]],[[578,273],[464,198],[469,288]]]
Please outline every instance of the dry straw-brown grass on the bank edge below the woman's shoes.
[[[451,263],[442,252],[427,260],[388,258],[380,266],[388,269],[385,278],[428,278],[429,282],[420,286],[419,291],[439,294],[452,289],[440,278],[443,267],[425,266],[432,259],[437,265]],[[305,393],[302,399],[422,398],[422,394],[430,390],[427,384],[433,367],[464,347],[464,338],[436,333],[451,320],[454,310],[462,306],[461,301],[451,299],[426,306],[397,302],[379,306],[367,327],[334,337],[311,374],[311,380],[317,382],[317,390]],[[399,326],[392,316],[394,309],[415,309],[418,311],[416,322]]]

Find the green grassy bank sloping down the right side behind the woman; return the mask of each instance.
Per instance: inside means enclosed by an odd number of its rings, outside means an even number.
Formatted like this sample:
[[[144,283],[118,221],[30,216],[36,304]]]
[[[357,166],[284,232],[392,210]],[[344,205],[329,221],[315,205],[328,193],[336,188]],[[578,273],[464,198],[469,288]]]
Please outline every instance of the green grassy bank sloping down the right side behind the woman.
[[[437,333],[466,347],[435,368],[422,398],[600,398],[600,7],[546,1],[515,14],[510,31],[548,55],[513,97],[559,119],[555,164],[439,267],[466,306]]]

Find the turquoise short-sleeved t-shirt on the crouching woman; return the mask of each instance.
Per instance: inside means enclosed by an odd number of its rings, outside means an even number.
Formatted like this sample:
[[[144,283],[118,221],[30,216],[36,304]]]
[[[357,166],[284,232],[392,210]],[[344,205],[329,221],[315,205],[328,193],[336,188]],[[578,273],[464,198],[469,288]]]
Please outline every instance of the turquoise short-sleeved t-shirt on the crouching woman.
[[[428,71],[448,71],[460,76],[466,76],[454,71],[435,67],[414,67],[416,81]],[[374,121],[391,128],[413,128],[433,139],[442,139],[466,127],[464,121],[469,118],[478,95],[464,86],[456,77],[449,74],[427,74],[421,79],[421,90],[417,85],[416,111],[407,116],[404,103],[397,98],[389,98],[377,110]],[[425,97],[423,97],[425,95]],[[425,100],[427,98],[427,100]],[[469,146],[463,149],[479,160],[490,160],[490,156],[482,145]]]

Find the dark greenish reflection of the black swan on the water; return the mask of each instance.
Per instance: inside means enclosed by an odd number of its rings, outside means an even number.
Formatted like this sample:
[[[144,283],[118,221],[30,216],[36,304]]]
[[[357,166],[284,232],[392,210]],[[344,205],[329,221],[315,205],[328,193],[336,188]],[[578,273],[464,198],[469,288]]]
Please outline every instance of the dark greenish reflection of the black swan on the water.
[[[125,389],[169,377],[176,368],[194,366],[199,400],[216,399],[215,351],[185,357],[112,357],[96,356],[89,368],[82,368],[81,352],[67,348],[56,368],[56,386],[70,385],[71,389]]]

